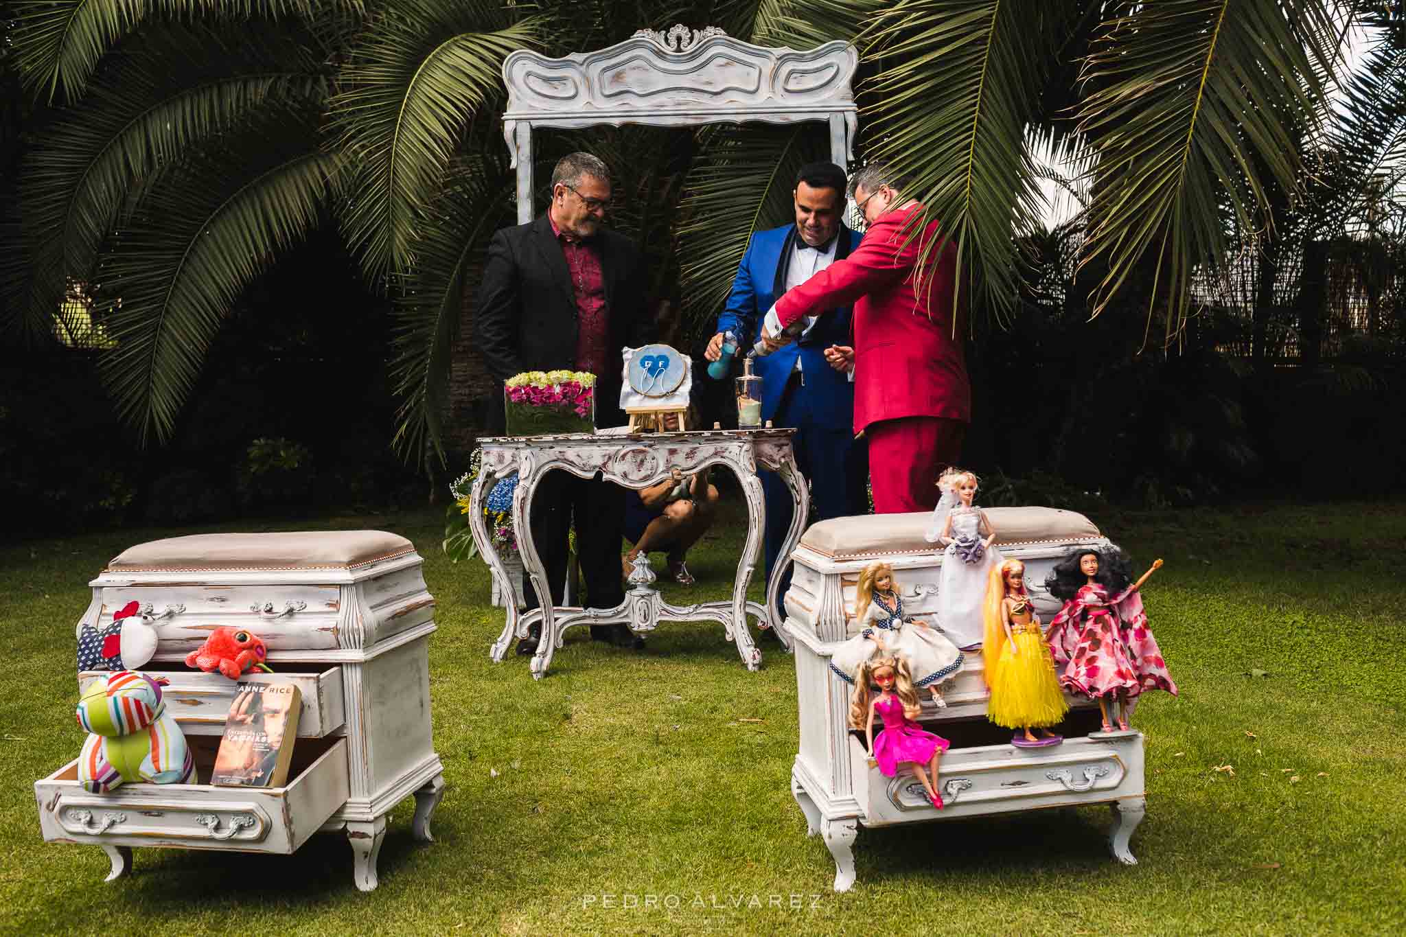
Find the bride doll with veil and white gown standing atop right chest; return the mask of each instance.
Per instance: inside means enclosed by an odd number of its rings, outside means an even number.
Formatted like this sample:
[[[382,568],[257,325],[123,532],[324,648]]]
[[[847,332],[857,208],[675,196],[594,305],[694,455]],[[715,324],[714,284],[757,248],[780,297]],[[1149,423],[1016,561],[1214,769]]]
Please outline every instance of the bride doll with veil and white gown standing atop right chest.
[[[984,638],[981,603],[991,568],[1005,558],[991,546],[995,531],[986,511],[976,506],[976,475],[950,468],[938,486],[942,497],[924,535],[929,544],[945,548],[938,579],[938,627],[959,648],[970,649]]]

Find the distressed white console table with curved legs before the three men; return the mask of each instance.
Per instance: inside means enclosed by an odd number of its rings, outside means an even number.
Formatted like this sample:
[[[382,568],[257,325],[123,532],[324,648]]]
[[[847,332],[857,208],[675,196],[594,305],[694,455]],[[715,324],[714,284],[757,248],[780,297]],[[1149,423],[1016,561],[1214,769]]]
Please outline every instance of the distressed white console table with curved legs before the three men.
[[[633,631],[650,631],[661,620],[665,621],[718,621],[728,639],[737,643],[737,652],[748,670],[756,670],[762,653],[752,643],[747,627],[747,615],[756,615],[775,629],[782,643],[790,649],[790,638],[782,629],[776,614],[776,597],[780,590],[782,570],[786,563],[778,563],[770,570],[766,584],[765,607],[747,601],[747,586],[761,558],[762,530],[766,524],[766,507],[762,499],[762,482],[756,478],[758,466],[782,476],[792,493],[792,523],[782,546],[782,556],[790,556],[800,541],[801,530],[810,514],[810,492],[806,479],[796,466],[792,451],[793,430],[709,430],[699,433],[633,433],[633,434],[588,434],[531,437],[489,437],[479,440],[482,464],[474,482],[468,511],[470,528],[478,544],[479,555],[488,561],[499,590],[512,596],[512,582],[502,558],[494,549],[484,521],[484,499],[494,485],[509,475],[517,473],[517,492],[513,494],[513,530],[517,534],[517,548],[523,566],[537,596],[543,597],[541,608],[520,612],[516,604],[508,604],[508,621],[503,632],[494,642],[489,656],[501,662],[513,638],[526,638],[533,624],[541,624],[541,638],[537,653],[531,659],[531,674],[541,679],[551,666],[551,657],[561,648],[562,632],[572,625],[600,625],[621,622]],[[692,475],[703,468],[721,465],[731,469],[742,483],[747,496],[747,544],[737,563],[737,579],[733,583],[731,601],[704,601],[695,605],[671,605],[661,601],[651,587],[652,575],[637,563],[630,576],[631,589],[624,603],[616,608],[555,608],[547,589],[547,570],[531,538],[531,500],[537,480],[553,469],[571,472],[578,478],[593,478],[600,472],[607,482],[624,487],[644,489],[669,478],[672,469]],[[648,561],[645,561],[648,562]],[[787,561],[789,562],[789,561]]]

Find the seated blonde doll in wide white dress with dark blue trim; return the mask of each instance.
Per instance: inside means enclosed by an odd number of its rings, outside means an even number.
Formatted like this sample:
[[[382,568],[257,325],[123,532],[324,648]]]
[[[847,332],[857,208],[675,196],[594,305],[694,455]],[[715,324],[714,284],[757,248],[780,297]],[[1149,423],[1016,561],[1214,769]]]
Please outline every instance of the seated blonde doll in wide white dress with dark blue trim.
[[[903,614],[903,597],[894,587],[893,566],[869,563],[859,573],[855,589],[855,614],[859,634],[842,643],[831,656],[831,667],[855,686],[859,667],[875,655],[896,655],[908,662],[914,686],[932,694],[932,701],[946,707],[941,686],[962,669],[962,652],[921,618]]]

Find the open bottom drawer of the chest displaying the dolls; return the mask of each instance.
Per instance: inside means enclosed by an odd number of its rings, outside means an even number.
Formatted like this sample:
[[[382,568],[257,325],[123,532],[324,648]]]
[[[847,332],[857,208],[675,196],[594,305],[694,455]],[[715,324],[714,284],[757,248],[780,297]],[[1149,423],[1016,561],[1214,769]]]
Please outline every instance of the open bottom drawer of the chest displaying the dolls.
[[[925,728],[939,735],[948,735],[949,729]],[[953,745],[938,766],[941,811],[911,773],[901,770],[890,778],[870,767],[863,743],[853,736],[849,759],[855,799],[865,812],[866,826],[1080,806],[1143,795],[1143,736],[1136,730],[1066,738],[1047,749]]]

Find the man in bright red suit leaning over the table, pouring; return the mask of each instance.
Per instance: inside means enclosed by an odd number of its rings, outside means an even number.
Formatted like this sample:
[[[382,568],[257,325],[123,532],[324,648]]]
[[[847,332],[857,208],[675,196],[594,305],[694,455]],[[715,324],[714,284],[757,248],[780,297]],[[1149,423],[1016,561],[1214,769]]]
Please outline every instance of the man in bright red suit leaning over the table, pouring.
[[[901,192],[905,181],[870,163],[853,178],[855,202],[869,229],[849,257],[787,291],[766,317],[769,348],[792,339],[782,330],[803,316],[855,303],[853,347],[835,346],[831,367],[852,371],[855,435],[869,438],[875,511],[931,510],[938,473],[962,454],[972,420],[972,386],[960,329],[953,320],[956,244],[941,249],[938,222],[910,237],[905,222],[921,205]],[[924,247],[932,244],[920,266]],[[965,298],[963,298],[965,310]]]

